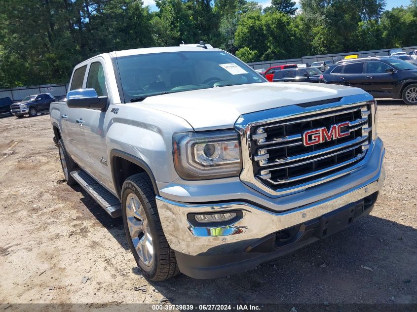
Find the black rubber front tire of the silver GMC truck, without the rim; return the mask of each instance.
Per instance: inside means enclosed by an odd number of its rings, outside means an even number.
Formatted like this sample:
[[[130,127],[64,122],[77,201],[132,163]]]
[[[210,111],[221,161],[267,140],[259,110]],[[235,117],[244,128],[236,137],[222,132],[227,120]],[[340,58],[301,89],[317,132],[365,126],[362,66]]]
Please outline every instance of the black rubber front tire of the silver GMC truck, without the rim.
[[[139,257],[138,252],[133,244],[132,237],[129,232],[127,221],[127,198],[132,193],[139,199],[140,205],[145,212],[146,222],[149,225],[149,231],[152,236],[153,258],[150,265],[146,265]],[[129,176],[123,183],[121,190],[122,197],[122,217],[124,229],[126,232],[127,242],[133,257],[138,264],[138,268],[142,275],[152,281],[163,281],[171,277],[177,276],[180,271],[178,269],[177,260],[174,250],[169,247],[162,230],[161,221],[159,219],[156,207],[155,193],[153,192],[152,182],[146,173],[137,173]],[[140,219],[137,219],[140,220]],[[142,223],[144,227],[144,223]],[[139,233],[139,238],[144,237],[145,231]],[[141,236],[142,235],[142,236]]]

